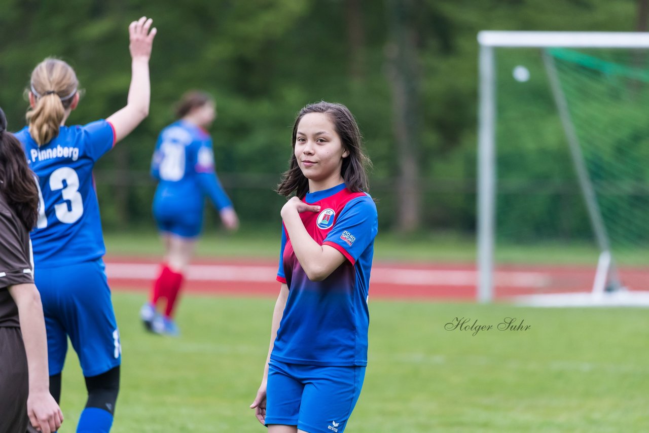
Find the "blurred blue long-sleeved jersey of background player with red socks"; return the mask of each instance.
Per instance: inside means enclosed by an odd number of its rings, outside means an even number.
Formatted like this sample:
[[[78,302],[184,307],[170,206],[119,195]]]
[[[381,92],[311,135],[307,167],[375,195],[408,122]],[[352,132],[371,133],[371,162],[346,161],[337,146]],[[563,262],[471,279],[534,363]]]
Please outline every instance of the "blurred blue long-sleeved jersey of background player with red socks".
[[[204,195],[219,210],[232,206],[216,177],[212,139],[192,123],[179,120],[160,132],[151,175],[159,181],[154,207],[202,214]]]

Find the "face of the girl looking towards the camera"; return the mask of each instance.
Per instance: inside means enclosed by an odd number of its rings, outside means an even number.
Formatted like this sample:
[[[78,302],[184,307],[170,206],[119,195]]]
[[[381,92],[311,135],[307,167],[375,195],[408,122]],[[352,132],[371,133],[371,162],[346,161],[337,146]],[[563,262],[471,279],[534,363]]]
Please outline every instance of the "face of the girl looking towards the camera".
[[[295,158],[302,174],[309,180],[309,192],[333,188],[343,182],[343,158],[349,152],[343,147],[329,116],[305,114],[297,125]]]

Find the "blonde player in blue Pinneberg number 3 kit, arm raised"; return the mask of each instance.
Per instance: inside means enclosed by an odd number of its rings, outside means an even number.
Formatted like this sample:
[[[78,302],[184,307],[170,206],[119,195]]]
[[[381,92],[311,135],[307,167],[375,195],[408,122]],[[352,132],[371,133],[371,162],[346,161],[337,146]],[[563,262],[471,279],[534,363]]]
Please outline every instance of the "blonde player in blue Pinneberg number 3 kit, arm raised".
[[[156,34],[151,23],[142,17],[129,25],[132,77],[126,106],[105,120],[66,127],[79,104],[79,81],[66,62],[46,58],[31,75],[29,126],[16,134],[38,176],[40,209],[31,239],[50,391],[58,402],[68,336],[86,378],[88,401],[77,432],[108,432],[119,391],[121,346],[104,272],[92,169],[149,114],[149,58]]]

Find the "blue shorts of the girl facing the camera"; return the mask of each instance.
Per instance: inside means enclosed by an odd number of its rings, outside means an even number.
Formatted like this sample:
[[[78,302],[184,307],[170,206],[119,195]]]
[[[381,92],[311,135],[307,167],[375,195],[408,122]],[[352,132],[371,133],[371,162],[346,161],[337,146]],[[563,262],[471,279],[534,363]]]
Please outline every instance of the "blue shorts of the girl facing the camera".
[[[265,424],[343,433],[363,387],[365,367],[286,364],[271,360]]]

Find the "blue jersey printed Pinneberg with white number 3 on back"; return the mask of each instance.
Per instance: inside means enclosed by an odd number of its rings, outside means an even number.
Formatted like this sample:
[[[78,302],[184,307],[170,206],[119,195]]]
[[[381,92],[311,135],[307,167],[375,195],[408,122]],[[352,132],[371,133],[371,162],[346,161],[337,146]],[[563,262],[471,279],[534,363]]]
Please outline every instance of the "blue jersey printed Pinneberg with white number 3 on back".
[[[101,258],[106,252],[93,185],[95,162],[115,144],[105,120],[60,127],[40,147],[27,127],[16,136],[38,176],[40,210],[31,232],[36,267],[56,267]]]

